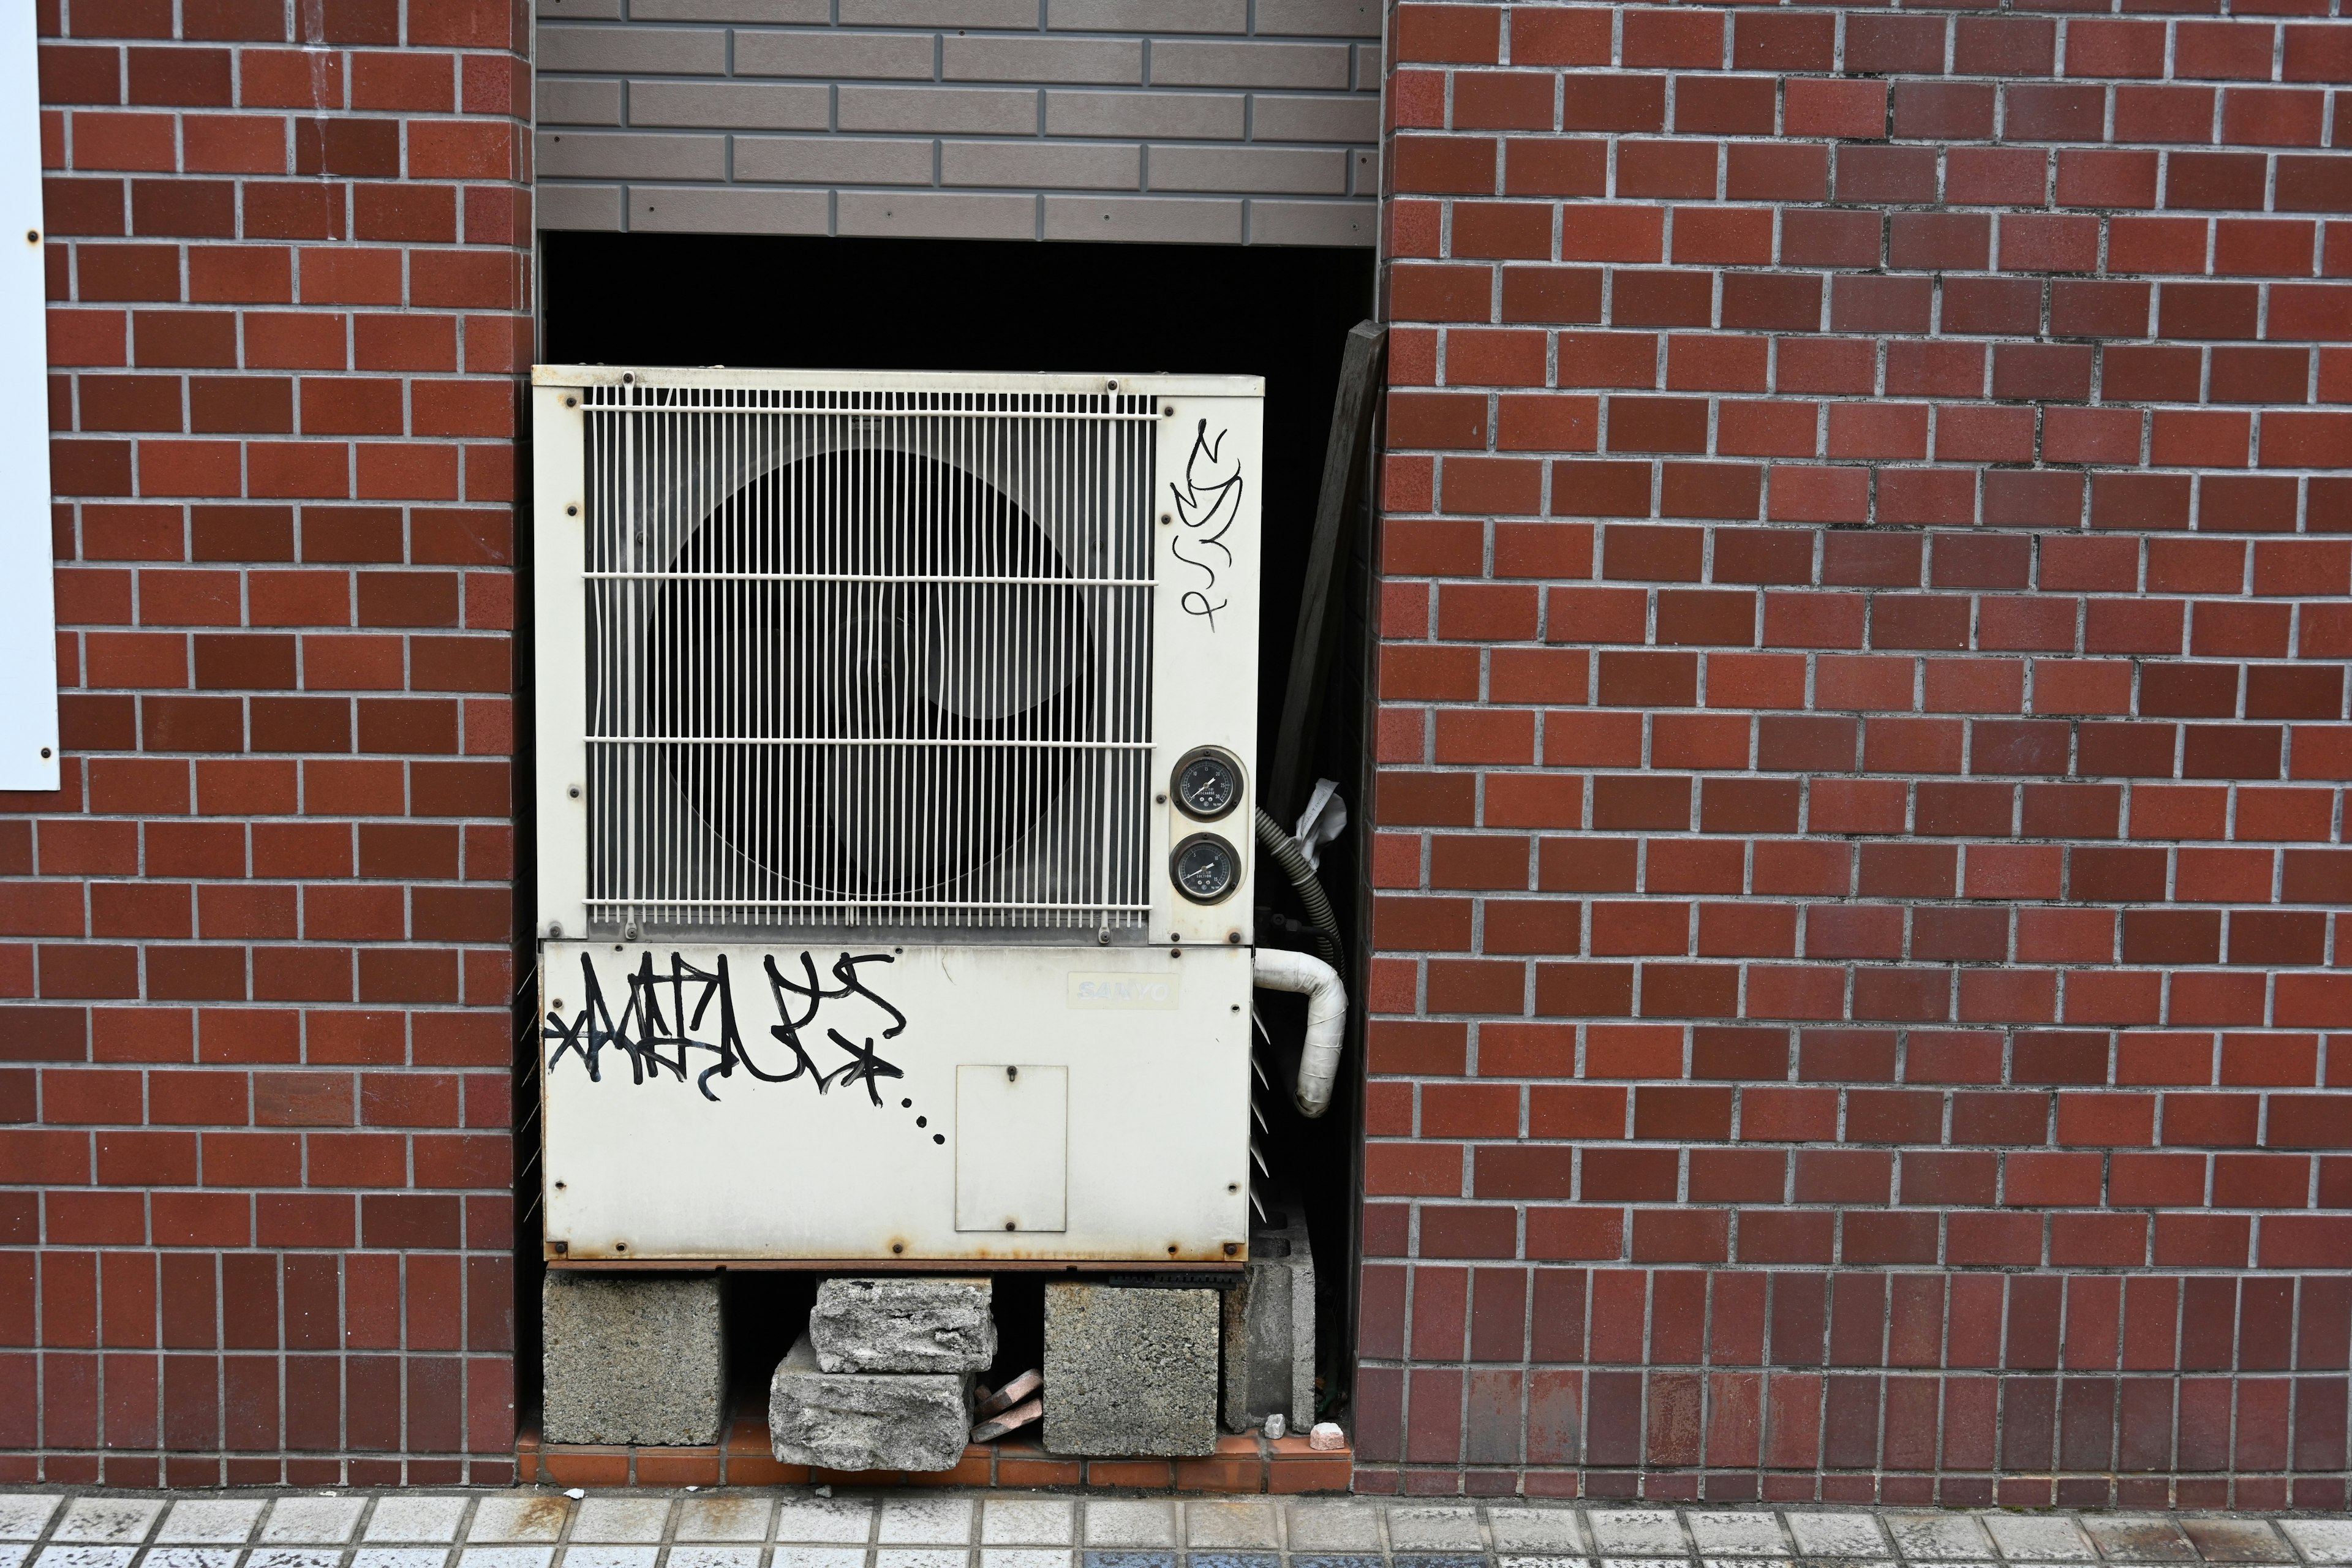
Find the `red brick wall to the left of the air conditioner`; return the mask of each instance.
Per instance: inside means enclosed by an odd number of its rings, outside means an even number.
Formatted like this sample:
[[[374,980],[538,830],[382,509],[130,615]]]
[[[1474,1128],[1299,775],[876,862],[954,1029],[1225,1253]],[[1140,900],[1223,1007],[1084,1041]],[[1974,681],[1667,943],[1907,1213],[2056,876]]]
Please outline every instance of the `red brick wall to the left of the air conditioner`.
[[[0,799],[0,1479],[499,1481],[527,16],[38,9],[66,790]]]

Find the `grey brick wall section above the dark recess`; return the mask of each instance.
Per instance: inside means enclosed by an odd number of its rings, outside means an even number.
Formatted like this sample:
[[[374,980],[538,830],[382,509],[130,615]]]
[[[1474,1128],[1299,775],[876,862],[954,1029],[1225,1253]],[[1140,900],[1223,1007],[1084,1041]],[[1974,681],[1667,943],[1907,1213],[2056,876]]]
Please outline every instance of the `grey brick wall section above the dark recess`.
[[[536,0],[541,228],[1374,242],[1378,0]]]

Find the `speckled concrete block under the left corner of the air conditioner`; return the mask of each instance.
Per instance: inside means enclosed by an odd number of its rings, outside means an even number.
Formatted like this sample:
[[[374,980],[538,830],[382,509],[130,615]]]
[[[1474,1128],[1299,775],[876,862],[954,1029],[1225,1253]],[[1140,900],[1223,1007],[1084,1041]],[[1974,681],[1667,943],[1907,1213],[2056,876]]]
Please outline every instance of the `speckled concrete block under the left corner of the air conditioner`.
[[[539,1291],[550,1443],[720,1439],[727,1335],[717,1274],[550,1269]]]

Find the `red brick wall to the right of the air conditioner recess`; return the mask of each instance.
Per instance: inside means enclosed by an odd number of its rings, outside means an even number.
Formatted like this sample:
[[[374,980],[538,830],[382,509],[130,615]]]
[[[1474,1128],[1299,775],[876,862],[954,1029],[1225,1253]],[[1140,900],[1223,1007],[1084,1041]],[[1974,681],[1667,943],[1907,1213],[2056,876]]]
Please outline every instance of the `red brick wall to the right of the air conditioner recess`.
[[[2352,26],[2197,9],[1392,12],[1359,1486],[2343,1507]]]

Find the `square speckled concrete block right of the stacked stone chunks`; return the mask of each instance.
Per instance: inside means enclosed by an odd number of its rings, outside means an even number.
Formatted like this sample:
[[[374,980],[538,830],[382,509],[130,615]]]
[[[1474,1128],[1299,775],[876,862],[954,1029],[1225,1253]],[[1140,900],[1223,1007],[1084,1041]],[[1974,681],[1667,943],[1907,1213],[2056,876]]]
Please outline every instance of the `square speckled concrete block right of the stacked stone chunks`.
[[[1047,1453],[1214,1453],[1216,1295],[1049,1284]]]

